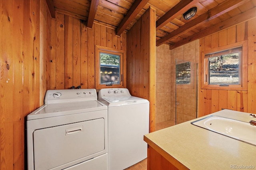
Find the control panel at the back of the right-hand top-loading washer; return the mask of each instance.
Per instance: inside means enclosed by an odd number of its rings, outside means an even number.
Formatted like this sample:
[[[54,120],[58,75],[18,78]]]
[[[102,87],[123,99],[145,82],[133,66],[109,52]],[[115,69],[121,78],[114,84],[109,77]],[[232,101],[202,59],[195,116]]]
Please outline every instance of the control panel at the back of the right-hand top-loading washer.
[[[98,97],[131,96],[127,88],[105,88],[101,89]]]

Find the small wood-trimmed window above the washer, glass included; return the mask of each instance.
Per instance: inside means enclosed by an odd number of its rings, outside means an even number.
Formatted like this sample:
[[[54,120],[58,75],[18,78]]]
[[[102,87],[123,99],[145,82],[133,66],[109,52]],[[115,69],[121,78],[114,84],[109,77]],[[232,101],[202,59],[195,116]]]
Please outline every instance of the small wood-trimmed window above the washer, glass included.
[[[126,52],[95,45],[96,89],[126,88]]]

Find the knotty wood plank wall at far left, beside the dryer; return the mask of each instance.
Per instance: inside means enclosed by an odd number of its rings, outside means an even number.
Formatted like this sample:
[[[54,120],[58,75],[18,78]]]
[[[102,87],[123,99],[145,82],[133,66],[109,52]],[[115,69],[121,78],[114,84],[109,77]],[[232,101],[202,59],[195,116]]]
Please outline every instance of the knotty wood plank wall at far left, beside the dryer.
[[[0,169],[26,169],[26,115],[50,88],[50,14],[42,0],[0,0]]]

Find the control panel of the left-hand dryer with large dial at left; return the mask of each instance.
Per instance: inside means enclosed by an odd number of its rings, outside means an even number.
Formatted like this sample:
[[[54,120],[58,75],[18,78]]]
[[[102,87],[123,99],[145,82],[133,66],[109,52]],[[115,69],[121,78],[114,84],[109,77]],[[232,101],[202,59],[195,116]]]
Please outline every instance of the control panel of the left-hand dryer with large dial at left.
[[[84,102],[90,100],[97,100],[95,89],[47,90],[44,97],[44,104]]]

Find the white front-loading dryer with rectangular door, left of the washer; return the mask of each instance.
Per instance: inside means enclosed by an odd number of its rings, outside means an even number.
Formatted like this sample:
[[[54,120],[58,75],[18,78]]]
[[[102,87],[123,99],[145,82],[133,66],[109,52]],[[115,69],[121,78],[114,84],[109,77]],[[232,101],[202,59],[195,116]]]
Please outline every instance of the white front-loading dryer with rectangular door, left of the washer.
[[[107,170],[107,106],[95,89],[48,90],[27,116],[28,170]]]

